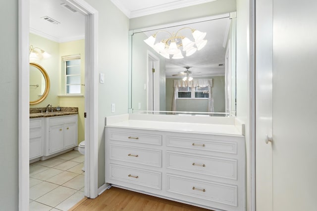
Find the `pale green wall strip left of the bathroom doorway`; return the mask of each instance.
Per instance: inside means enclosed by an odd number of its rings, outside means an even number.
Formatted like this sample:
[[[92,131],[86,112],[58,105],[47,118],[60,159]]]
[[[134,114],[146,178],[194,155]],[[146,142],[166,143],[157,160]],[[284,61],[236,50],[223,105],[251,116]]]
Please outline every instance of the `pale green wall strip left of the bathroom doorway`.
[[[0,205],[18,210],[18,0],[1,3]],[[28,105],[26,105],[28,106]]]

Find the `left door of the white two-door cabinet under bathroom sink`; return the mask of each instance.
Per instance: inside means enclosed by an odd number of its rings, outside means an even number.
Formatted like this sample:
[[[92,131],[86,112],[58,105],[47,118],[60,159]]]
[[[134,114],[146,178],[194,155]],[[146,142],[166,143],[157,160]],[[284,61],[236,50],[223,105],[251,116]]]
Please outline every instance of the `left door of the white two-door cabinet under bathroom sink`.
[[[64,149],[64,126],[51,126],[49,137],[49,153],[52,154],[62,149]]]

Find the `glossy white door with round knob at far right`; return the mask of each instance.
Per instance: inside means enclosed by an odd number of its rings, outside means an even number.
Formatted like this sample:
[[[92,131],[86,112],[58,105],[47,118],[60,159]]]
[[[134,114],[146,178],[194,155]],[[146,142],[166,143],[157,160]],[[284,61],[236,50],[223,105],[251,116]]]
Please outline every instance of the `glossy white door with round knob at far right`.
[[[257,0],[258,8],[265,8],[267,2]],[[264,7],[260,7],[262,3]],[[269,117],[259,110],[256,120],[256,208],[257,211],[316,211],[317,19],[313,14],[317,1],[273,0],[270,6],[273,8],[272,13],[263,15],[268,19],[273,17],[270,53],[273,142],[267,145],[264,142],[266,127],[265,124],[261,127],[265,121],[260,118]],[[259,16],[258,13],[257,18]],[[257,22],[257,30],[264,27]],[[257,42],[260,40],[257,39]],[[262,50],[265,47],[257,49],[257,53],[261,55]],[[258,59],[260,55],[257,55]],[[265,83],[265,77],[260,77],[260,74],[265,73],[265,65],[257,63],[257,67],[257,79],[264,81],[263,86],[257,84],[258,108],[259,104],[265,104],[267,100],[265,94],[261,94],[261,88],[269,89],[270,84]],[[265,172],[270,170],[270,166],[271,173]],[[271,195],[266,196],[270,192]],[[272,202],[272,209],[271,205],[265,204],[265,198],[261,198],[265,196],[267,203]]]

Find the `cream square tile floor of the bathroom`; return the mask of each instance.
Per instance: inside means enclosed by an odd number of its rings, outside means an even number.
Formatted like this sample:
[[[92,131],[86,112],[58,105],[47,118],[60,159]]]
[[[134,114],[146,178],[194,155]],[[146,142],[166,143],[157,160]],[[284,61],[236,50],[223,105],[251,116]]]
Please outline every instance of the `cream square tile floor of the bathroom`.
[[[83,199],[83,166],[76,150],[30,164],[30,211],[67,211]]]

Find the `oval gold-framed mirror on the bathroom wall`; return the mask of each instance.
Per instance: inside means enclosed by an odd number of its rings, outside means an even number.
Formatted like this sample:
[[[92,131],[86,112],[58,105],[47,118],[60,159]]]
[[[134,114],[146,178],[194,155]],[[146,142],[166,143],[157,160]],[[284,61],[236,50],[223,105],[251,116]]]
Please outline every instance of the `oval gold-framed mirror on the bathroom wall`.
[[[30,62],[30,105],[42,102],[49,91],[49,75],[41,65]]]

